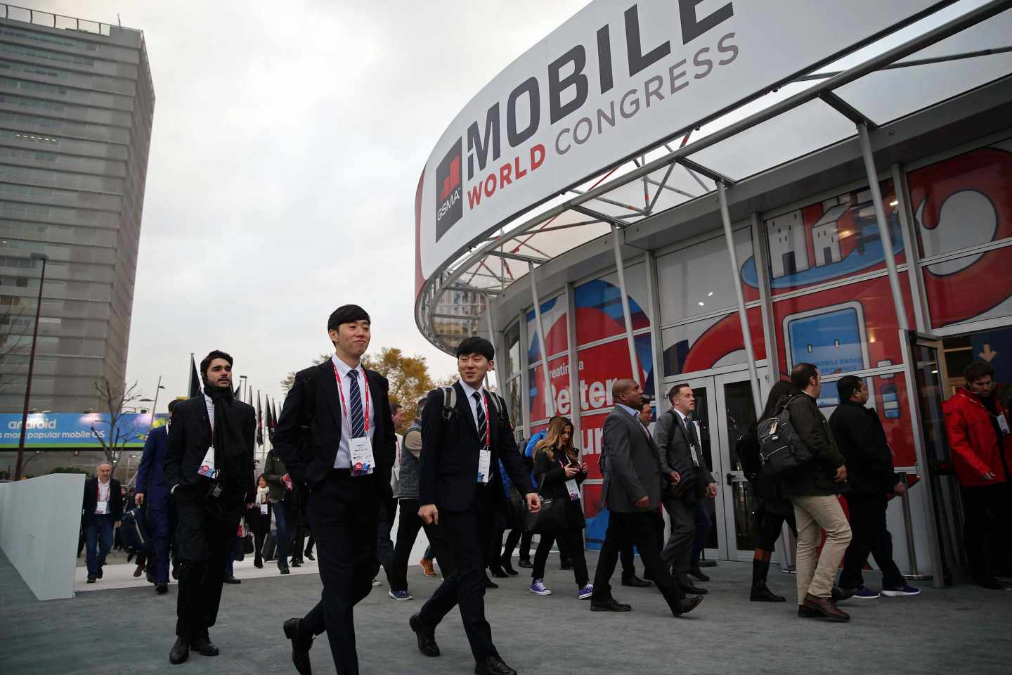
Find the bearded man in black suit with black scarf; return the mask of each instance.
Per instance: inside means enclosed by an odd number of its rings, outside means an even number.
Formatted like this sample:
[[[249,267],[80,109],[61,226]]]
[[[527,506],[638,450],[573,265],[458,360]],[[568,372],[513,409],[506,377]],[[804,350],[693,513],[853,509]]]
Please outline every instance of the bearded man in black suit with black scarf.
[[[200,361],[203,393],[175,407],[164,475],[179,524],[176,643],[169,661],[182,663],[192,647],[217,656],[208,628],[218,618],[226,553],[239,519],[256,494],[253,445],[256,412],[232,390],[232,356],[215,350]]]

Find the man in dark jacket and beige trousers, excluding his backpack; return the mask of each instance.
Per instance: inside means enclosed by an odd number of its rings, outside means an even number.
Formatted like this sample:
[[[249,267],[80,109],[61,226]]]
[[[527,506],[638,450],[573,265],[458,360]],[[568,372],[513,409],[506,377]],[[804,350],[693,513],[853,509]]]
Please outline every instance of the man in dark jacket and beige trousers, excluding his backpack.
[[[847,481],[847,468],[829,422],[819,410],[819,368],[798,363],[790,371],[790,384],[797,393],[781,405],[803,449],[808,450],[802,466],[781,475],[783,494],[793,503],[797,522],[797,615],[849,621],[850,616],[833,600],[833,578],[851,537],[850,524],[837,499]],[[826,543],[820,555],[823,529]]]

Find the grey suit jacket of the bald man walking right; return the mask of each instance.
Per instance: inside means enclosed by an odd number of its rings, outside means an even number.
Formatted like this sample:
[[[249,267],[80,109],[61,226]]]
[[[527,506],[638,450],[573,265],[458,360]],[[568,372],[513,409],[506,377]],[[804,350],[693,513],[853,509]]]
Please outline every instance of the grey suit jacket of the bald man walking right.
[[[613,513],[654,510],[661,503],[661,453],[639,417],[615,406],[604,421],[601,500]],[[650,497],[649,509],[636,502]]]

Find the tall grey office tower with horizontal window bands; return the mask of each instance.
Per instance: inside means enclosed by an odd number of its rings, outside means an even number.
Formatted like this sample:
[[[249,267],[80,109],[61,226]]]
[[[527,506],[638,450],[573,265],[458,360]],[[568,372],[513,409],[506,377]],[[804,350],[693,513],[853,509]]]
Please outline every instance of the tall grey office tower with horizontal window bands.
[[[140,30],[0,4],[0,412],[125,377],[155,93]]]

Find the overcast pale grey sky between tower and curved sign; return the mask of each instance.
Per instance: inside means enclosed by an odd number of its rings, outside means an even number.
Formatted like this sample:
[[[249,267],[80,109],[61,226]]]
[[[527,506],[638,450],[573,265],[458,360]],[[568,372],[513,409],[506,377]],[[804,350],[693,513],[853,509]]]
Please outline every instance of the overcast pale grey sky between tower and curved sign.
[[[186,393],[189,354],[278,382],[331,349],[329,314],[372,318],[436,376],[414,322],[414,198],[453,116],[581,0],[78,0],[33,8],[144,30],[155,84],[128,382]]]

